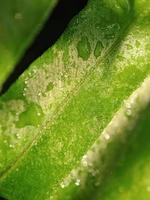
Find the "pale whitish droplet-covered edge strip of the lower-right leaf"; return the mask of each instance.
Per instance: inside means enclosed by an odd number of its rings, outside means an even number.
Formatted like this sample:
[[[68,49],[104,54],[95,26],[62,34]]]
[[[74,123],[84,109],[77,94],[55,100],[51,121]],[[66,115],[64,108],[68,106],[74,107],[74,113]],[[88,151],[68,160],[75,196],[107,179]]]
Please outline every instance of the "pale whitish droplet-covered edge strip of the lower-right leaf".
[[[92,184],[96,187],[101,184],[103,172],[107,170],[107,164],[109,166],[109,157],[107,156],[108,152],[111,151],[112,156],[116,155],[116,151],[113,153],[113,145],[111,145],[112,149],[109,149],[109,144],[113,142],[115,143],[116,138],[118,138],[118,142],[122,140],[125,141],[127,139],[128,131],[125,127],[132,126],[133,122],[128,120],[128,117],[126,116],[131,116],[132,112],[134,112],[134,114],[138,113],[138,110],[135,110],[135,107],[137,107],[137,103],[139,103],[139,95],[142,100],[145,99],[146,102],[148,101],[147,96],[149,95],[146,94],[146,97],[143,97],[143,94],[145,94],[144,91],[149,85],[149,81],[145,82],[146,83],[142,85],[142,89],[140,88],[135,91],[129,100],[125,102],[125,106],[118,111],[106,129],[102,132],[96,143],[87,152],[87,154],[82,157],[80,166],[76,170],[73,170],[73,172],[66,179],[64,179],[61,183],[62,188],[69,186],[70,183],[75,183],[76,186],[83,186],[86,184],[89,176],[93,177],[92,179],[94,182],[92,182]],[[124,109],[127,112],[125,115]],[[108,151],[107,147],[109,147]],[[149,187],[147,190],[149,190]]]

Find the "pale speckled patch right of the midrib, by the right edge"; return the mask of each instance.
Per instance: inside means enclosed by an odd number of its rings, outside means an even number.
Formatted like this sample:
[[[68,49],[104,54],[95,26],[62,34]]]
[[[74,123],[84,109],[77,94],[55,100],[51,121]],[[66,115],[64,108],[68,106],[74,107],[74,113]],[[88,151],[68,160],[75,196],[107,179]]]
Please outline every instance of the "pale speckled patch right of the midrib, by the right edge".
[[[135,31],[130,33],[121,45],[119,54],[117,54],[116,65],[118,69],[123,71],[129,65],[134,65],[135,68],[142,70],[143,67],[141,65],[148,62],[148,43],[149,37],[142,32]]]

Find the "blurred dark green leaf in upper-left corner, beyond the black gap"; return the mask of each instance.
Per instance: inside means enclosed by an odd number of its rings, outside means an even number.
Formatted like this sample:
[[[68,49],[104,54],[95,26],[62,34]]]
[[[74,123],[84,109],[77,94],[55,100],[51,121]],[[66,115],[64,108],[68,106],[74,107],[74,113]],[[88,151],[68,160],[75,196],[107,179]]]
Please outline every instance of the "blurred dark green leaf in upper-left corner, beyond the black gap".
[[[52,11],[56,0],[2,0],[0,6],[0,86]]]

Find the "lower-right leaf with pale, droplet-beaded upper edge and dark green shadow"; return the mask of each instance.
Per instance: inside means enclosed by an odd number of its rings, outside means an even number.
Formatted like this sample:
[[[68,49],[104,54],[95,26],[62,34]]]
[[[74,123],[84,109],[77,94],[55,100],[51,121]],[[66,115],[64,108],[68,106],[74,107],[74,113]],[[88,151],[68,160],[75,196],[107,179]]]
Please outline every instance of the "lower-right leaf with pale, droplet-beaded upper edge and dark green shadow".
[[[150,198],[150,78],[116,113],[54,199]]]

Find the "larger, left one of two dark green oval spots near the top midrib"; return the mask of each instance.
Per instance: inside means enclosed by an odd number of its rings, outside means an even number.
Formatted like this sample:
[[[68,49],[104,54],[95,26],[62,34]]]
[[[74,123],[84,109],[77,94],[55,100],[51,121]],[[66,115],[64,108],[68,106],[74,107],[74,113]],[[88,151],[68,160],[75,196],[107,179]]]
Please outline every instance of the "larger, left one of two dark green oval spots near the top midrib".
[[[78,56],[83,60],[87,60],[91,53],[91,46],[87,37],[82,37],[77,44]]]

